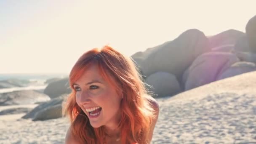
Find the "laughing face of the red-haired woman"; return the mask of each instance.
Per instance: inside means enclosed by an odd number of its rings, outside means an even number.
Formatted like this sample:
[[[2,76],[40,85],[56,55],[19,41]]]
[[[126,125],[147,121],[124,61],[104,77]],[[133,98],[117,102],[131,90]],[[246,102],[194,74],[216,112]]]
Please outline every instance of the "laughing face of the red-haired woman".
[[[76,102],[85,112],[94,128],[116,127],[119,123],[122,96],[101,76],[96,64],[92,64],[74,83]]]

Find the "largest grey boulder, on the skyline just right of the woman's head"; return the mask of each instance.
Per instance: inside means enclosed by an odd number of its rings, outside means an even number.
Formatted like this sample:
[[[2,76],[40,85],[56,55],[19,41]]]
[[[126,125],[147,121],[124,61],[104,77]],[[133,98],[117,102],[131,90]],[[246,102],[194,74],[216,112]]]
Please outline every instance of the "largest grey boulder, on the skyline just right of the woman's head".
[[[146,77],[155,72],[168,72],[179,80],[192,61],[207,51],[210,51],[210,48],[203,32],[189,29],[175,40],[145,51],[140,68]]]

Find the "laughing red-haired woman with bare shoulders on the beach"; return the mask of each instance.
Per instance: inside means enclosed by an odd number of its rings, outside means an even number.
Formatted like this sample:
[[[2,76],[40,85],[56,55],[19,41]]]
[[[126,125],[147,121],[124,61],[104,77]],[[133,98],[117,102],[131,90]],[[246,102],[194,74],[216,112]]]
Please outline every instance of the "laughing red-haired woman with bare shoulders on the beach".
[[[159,107],[130,58],[109,46],[88,51],[69,85],[66,144],[150,144]]]

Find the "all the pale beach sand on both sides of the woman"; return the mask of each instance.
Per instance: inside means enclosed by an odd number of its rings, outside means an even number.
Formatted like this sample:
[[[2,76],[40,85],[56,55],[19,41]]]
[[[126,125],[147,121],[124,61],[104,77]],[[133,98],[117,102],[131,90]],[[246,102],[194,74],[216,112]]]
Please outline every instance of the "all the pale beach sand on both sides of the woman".
[[[157,99],[152,144],[256,144],[256,73],[220,80]],[[0,144],[63,144],[66,118],[0,117]]]

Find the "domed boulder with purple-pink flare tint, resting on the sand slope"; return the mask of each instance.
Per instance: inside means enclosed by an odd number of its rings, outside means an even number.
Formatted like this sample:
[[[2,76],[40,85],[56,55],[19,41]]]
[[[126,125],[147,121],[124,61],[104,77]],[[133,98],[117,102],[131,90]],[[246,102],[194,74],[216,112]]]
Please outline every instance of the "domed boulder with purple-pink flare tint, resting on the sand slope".
[[[239,61],[232,53],[209,52],[199,56],[184,72],[185,91],[216,81],[219,74]]]

